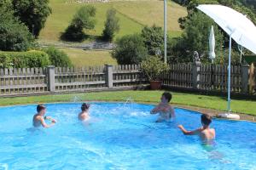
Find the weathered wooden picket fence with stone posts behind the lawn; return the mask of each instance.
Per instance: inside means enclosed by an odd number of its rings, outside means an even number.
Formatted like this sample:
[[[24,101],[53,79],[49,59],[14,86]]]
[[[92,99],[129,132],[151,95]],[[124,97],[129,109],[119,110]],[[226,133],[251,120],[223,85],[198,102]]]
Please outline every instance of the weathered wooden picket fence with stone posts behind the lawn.
[[[200,91],[227,92],[226,65],[173,64],[162,75],[163,85]],[[231,66],[231,92],[256,94],[253,65]],[[102,65],[82,68],[0,69],[0,96],[137,88],[148,85],[140,65]]]

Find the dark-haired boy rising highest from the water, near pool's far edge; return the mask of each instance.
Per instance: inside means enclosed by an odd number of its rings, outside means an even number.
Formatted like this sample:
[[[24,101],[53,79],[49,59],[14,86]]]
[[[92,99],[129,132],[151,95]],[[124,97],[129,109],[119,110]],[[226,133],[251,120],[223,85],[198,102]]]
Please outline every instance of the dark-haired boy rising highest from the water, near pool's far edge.
[[[156,122],[163,122],[170,120],[171,118],[175,118],[174,109],[172,108],[172,105],[169,104],[171,99],[172,94],[170,94],[169,92],[165,92],[161,96],[160,104],[155,106],[154,109],[150,111],[150,114],[160,113],[160,116]]]

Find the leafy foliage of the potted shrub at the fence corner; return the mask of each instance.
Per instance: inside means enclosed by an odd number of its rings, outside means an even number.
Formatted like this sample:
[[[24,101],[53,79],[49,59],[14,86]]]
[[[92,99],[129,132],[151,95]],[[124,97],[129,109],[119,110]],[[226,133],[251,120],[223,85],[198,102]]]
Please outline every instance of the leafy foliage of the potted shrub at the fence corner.
[[[149,81],[156,81],[160,79],[163,72],[168,71],[169,67],[160,57],[148,56],[142,62],[143,72],[147,75]]]

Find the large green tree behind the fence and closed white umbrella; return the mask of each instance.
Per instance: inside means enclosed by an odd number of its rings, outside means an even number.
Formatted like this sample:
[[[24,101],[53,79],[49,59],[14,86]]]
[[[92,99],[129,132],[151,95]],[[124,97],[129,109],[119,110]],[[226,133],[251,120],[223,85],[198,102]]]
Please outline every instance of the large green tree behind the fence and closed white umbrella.
[[[220,56],[222,53],[223,35],[218,31],[218,26],[207,15],[195,13],[187,20],[182,37],[169,41],[167,52],[170,59],[169,62],[192,61],[194,51],[198,52],[201,61],[207,62],[208,38],[211,26],[214,26],[215,53],[216,56]],[[184,56],[186,57],[184,58]]]

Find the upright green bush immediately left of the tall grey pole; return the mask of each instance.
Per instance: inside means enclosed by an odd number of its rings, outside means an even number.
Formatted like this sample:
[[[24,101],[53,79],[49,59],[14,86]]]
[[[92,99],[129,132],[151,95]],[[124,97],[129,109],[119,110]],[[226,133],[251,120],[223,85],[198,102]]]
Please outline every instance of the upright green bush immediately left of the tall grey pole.
[[[148,54],[154,55],[164,43],[164,31],[160,26],[145,26],[142,30],[143,42],[148,48]]]

